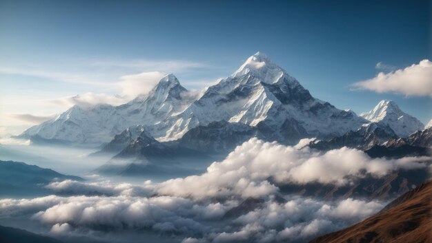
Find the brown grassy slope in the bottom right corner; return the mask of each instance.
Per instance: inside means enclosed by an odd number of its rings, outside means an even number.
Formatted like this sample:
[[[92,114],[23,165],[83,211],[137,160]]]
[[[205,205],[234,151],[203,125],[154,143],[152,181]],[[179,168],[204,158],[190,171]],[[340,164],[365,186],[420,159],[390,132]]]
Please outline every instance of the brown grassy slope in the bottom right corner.
[[[400,196],[389,207],[351,227],[310,243],[431,243],[432,181]]]

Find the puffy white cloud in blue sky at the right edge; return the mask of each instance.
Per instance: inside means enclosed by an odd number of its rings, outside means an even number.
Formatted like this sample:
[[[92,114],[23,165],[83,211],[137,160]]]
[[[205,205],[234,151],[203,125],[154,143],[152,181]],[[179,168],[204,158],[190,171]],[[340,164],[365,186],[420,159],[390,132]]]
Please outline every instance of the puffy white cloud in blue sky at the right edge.
[[[423,60],[403,70],[387,74],[380,72],[375,78],[355,83],[353,87],[377,93],[432,97],[432,62]]]

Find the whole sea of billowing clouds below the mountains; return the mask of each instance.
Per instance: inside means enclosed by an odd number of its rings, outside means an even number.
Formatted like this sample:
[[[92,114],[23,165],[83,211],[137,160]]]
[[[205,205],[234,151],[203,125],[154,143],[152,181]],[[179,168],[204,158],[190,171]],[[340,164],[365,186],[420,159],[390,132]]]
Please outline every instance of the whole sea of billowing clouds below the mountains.
[[[285,184],[344,185],[397,169],[426,169],[430,161],[373,159],[346,147],[318,152],[304,147],[307,143],[302,140],[291,147],[252,138],[202,175],[161,183],[52,182],[46,187],[55,195],[0,200],[0,219],[30,219],[48,226],[52,235],[92,235],[99,240],[108,239],[95,232],[130,231],[184,243],[305,242],[359,222],[386,202],[282,195],[268,178]],[[250,198],[262,201],[247,213],[225,217]]]

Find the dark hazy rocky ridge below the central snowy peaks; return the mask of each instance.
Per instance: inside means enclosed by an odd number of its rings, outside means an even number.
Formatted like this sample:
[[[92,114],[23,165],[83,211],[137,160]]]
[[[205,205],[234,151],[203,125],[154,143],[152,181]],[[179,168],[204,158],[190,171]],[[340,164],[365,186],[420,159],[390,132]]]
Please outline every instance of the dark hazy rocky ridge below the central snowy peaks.
[[[115,173],[121,171],[126,175],[130,164],[135,167],[133,173],[137,171],[146,171],[150,167],[157,170],[157,166],[166,163],[167,165],[175,165],[181,160],[202,160],[202,164],[214,160],[213,157],[222,158],[230,151],[235,149],[237,145],[241,145],[246,140],[253,137],[263,138],[256,127],[244,125],[242,123],[215,122],[207,126],[199,126],[190,129],[181,139],[170,142],[158,142],[146,131],[141,132],[139,137],[130,142],[130,136],[124,131],[122,134],[126,136],[118,136],[110,144],[124,145],[124,139],[128,145],[124,147],[119,154],[114,156],[106,165],[99,168],[101,172],[112,171],[115,165]],[[118,163],[116,161],[123,161]],[[154,164],[154,165],[150,165]],[[137,166],[140,167],[137,170]]]

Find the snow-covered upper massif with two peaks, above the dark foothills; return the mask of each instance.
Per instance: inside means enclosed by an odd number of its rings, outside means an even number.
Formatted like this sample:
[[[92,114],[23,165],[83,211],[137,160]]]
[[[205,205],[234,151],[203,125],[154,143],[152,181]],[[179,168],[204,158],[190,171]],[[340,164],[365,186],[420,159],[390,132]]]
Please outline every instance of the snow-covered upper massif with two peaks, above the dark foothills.
[[[168,74],[149,94],[129,103],[75,106],[21,136],[100,145],[130,126],[143,125],[153,138],[168,141],[181,138],[194,127],[219,121],[258,127],[271,135],[269,139],[283,143],[311,136],[342,136],[370,123],[351,110],[314,98],[268,56],[257,52],[199,96]]]

